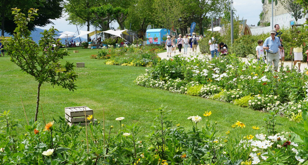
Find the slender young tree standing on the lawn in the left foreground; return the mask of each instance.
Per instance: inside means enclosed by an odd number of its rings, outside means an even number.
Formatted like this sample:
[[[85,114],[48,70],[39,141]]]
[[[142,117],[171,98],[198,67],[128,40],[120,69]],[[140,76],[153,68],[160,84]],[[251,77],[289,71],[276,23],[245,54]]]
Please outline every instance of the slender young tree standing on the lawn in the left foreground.
[[[53,38],[55,30],[53,27],[49,31],[45,30],[43,37],[36,44],[30,38],[30,31],[27,24],[34,20],[38,9],[30,9],[28,17],[20,12],[20,9],[14,8],[14,21],[17,24],[13,37],[3,38],[3,44],[6,47],[7,54],[11,57],[11,61],[38,81],[38,92],[36,102],[36,112],[34,120],[37,121],[39,113],[39,96],[40,87],[44,82],[50,82],[51,85],[62,86],[69,90],[75,90],[75,81],[78,77],[73,69],[73,63],[66,62],[62,65],[59,61],[67,56],[67,50],[60,50],[59,40]],[[55,45],[53,47],[52,45]],[[54,49],[54,50],[53,50]],[[41,52],[41,53],[40,53]]]

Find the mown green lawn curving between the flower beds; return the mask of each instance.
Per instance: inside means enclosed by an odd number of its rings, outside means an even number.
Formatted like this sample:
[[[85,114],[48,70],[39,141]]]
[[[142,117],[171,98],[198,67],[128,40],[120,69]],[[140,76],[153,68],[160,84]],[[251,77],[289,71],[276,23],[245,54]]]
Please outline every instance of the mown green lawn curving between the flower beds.
[[[73,53],[73,50],[79,50],[79,53]],[[262,127],[265,115],[263,112],[216,100],[144,88],[134,82],[138,75],[145,73],[144,67],[105,65],[105,60],[90,59],[91,54],[96,54],[95,49],[70,48],[69,52],[71,55],[64,58],[63,62],[85,62],[86,67],[75,69],[79,78],[74,92],[58,86],[53,88],[48,83],[41,86],[40,104],[47,122],[53,117],[64,117],[64,107],[74,106],[90,107],[94,111],[93,117],[102,121],[104,107],[106,127],[117,126],[114,129],[116,131],[119,122],[115,118],[125,117],[122,123],[138,122],[144,135],[151,131],[150,126],[157,114],[154,109],[163,104],[172,110],[168,119],[185,128],[191,127],[187,117],[202,116],[204,111],[212,111],[210,119],[218,122],[217,129],[221,135],[230,130],[230,126],[237,120],[246,125],[244,133],[253,133],[252,126],[261,127],[259,132],[265,133],[265,128]],[[22,73],[18,66],[10,62],[8,56],[0,57],[0,62],[0,111],[11,110],[22,124],[26,124],[20,95],[28,118],[34,118],[38,83],[30,75]],[[202,117],[203,120],[206,119]],[[43,121],[41,111],[38,120]],[[289,131],[288,128],[295,124],[283,117],[279,117],[278,122],[284,125],[277,126],[279,131]],[[201,121],[198,126],[204,123]]]

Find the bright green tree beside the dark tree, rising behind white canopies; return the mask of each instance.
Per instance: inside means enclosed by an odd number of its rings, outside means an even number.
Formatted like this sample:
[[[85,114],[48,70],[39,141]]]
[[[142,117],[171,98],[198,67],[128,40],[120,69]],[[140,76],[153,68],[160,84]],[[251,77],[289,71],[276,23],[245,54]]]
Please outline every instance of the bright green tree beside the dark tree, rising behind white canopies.
[[[90,31],[91,21],[95,19],[91,8],[100,6],[99,2],[98,0],[67,0],[67,3],[64,5],[65,12],[68,13],[66,20],[70,24],[81,27],[86,25],[87,31]]]

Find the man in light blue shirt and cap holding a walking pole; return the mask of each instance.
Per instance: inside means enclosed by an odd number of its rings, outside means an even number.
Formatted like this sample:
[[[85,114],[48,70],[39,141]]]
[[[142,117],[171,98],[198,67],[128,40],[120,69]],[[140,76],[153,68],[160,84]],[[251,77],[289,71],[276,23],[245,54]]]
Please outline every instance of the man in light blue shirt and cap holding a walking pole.
[[[274,70],[278,71],[278,63],[279,63],[279,49],[283,50],[283,47],[281,47],[280,39],[278,37],[275,37],[276,30],[270,31],[270,37],[266,38],[263,43],[263,49],[266,49],[266,59],[267,59],[267,69],[270,69],[270,67],[274,63]],[[279,48],[279,49],[278,49]]]

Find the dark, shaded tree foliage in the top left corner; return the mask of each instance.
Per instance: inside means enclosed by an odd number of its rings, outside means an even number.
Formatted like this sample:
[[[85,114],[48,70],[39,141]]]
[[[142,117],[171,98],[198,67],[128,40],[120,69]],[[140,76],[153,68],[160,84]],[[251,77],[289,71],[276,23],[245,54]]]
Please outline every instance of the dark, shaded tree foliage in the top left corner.
[[[27,13],[29,8],[39,9],[37,19],[27,25],[28,29],[32,31],[35,26],[45,26],[51,24],[51,20],[60,18],[63,10],[62,3],[63,0],[2,0],[0,2],[1,36],[4,36],[4,32],[14,33],[16,24],[14,24],[11,8],[17,7],[21,9],[22,13]]]

